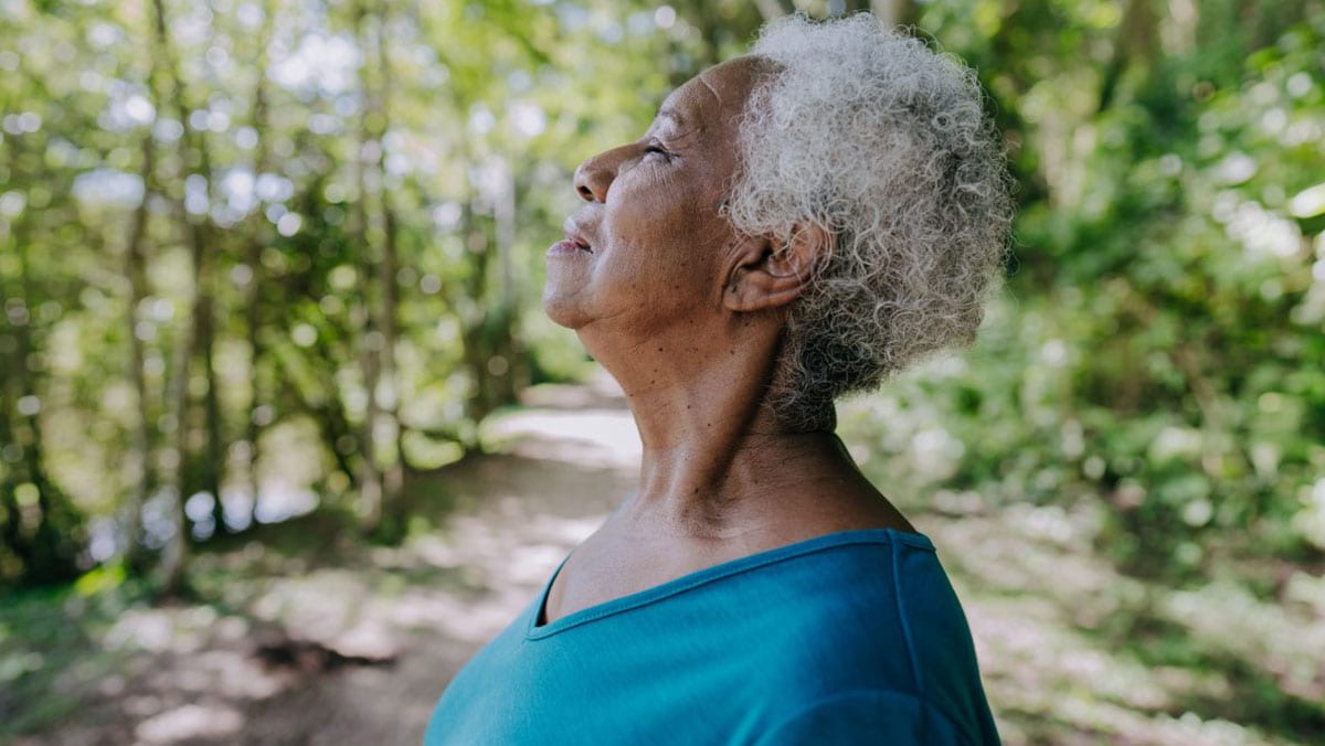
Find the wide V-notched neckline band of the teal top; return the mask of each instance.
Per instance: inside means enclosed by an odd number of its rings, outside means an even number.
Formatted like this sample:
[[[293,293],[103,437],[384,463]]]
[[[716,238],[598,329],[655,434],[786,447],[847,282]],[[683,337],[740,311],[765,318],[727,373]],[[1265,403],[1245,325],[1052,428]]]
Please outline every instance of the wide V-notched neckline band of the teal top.
[[[786,562],[808,554],[849,545],[890,542],[904,543],[920,550],[934,551],[934,543],[929,539],[929,537],[921,533],[898,531],[896,529],[856,529],[851,531],[835,531],[737,559],[729,559],[727,562],[696,570],[694,572],[681,575],[680,578],[666,580],[651,588],[582,608],[541,625],[538,624],[538,620],[543,616],[543,608],[547,604],[547,594],[551,591],[553,583],[556,582],[556,576],[560,575],[562,567],[566,566],[566,560],[570,559],[570,555],[567,555],[566,559],[562,559],[560,564],[556,566],[556,570],[553,571],[551,578],[549,578],[543,584],[543,590],[538,595],[538,600],[533,607],[533,613],[529,615],[525,639],[542,640],[551,637],[553,635],[564,632],[574,627],[580,627],[607,616],[649,606],[723,578],[730,578],[733,575],[739,575],[742,572],[749,572],[759,567],[776,564],[779,562]]]

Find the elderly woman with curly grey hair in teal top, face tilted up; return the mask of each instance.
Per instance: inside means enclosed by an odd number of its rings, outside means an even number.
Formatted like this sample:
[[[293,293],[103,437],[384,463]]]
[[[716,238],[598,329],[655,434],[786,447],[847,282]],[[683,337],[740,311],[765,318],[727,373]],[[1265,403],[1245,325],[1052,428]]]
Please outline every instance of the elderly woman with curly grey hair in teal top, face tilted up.
[[[586,160],[547,314],[640,488],[450,684],[427,743],[987,743],[934,547],[833,399],[969,343],[1010,221],[971,73],[869,16],[766,28]]]

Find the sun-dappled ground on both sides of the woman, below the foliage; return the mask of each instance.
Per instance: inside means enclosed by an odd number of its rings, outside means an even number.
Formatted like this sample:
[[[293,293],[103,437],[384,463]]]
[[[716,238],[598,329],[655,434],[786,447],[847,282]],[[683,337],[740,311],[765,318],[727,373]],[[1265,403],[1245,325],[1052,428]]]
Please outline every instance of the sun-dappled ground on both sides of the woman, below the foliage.
[[[399,547],[314,514],[195,557],[195,600],[94,580],[19,599],[0,611],[0,743],[417,743],[447,681],[631,489],[639,457],[610,391],[533,391],[486,435],[505,452],[411,484]],[[1231,580],[1143,583],[1092,551],[1088,511],[950,496],[912,517],[963,599],[1006,742],[1325,733],[1325,588],[1267,603]]]

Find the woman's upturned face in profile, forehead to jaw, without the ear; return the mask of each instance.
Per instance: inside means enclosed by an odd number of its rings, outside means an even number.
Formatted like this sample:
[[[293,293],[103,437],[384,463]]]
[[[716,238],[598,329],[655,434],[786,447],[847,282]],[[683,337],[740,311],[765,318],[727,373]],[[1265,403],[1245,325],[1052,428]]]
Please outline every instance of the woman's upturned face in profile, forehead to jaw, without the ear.
[[[741,57],[700,73],[664,101],[644,136],[580,164],[575,191],[586,204],[547,252],[553,321],[637,337],[721,313],[735,233],[719,205],[759,68]]]

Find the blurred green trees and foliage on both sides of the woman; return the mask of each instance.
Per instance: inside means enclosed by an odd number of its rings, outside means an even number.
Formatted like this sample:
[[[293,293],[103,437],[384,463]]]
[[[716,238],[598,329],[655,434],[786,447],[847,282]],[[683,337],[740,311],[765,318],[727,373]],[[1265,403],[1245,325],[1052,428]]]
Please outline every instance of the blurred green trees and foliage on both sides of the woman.
[[[0,586],[171,584],[311,509],[400,538],[407,477],[584,371],[537,307],[575,164],[765,17],[861,5],[0,0]],[[855,453],[904,504],[1086,515],[1134,574],[1301,586],[1325,5],[877,5],[980,70],[1022,207],[980,345],[845,404]]]

